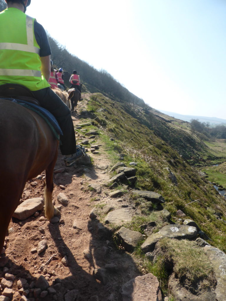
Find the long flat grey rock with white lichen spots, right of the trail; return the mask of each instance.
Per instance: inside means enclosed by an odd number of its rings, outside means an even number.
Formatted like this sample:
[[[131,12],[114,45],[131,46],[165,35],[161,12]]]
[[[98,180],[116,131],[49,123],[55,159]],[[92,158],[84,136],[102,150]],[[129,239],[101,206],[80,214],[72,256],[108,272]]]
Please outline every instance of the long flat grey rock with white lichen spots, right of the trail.
[[[198,231],[195,227],[187,225],[166,225],[159,232],[151,234],[141,245],[141,250],[145,253],[152,252],[155,244],[162,237],[170,237],[176,239],[191,239],[197,235]]]

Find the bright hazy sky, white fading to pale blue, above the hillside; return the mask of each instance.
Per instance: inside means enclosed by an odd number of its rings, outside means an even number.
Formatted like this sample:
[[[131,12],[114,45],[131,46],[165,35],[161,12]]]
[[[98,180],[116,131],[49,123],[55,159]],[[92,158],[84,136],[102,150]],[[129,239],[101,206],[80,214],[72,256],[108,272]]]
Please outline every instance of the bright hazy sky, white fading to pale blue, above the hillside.
[[[151,107],[226,119],[225,0],[31,0],[27,14]]]

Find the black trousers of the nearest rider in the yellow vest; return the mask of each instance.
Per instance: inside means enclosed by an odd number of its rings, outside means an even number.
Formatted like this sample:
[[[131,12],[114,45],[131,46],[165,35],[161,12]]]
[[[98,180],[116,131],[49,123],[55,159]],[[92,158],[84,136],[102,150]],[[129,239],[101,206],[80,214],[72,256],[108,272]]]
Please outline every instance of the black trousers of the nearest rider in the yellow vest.
[[[51,88],[32,91],[32,93],[37,101],[39,101],[40,105],[52,113],[59,123],[63,132],[63,135],[60,135],[62,143],[60,145],[61,154],[70,155],[76,153],[74,125],[69,108]]]

